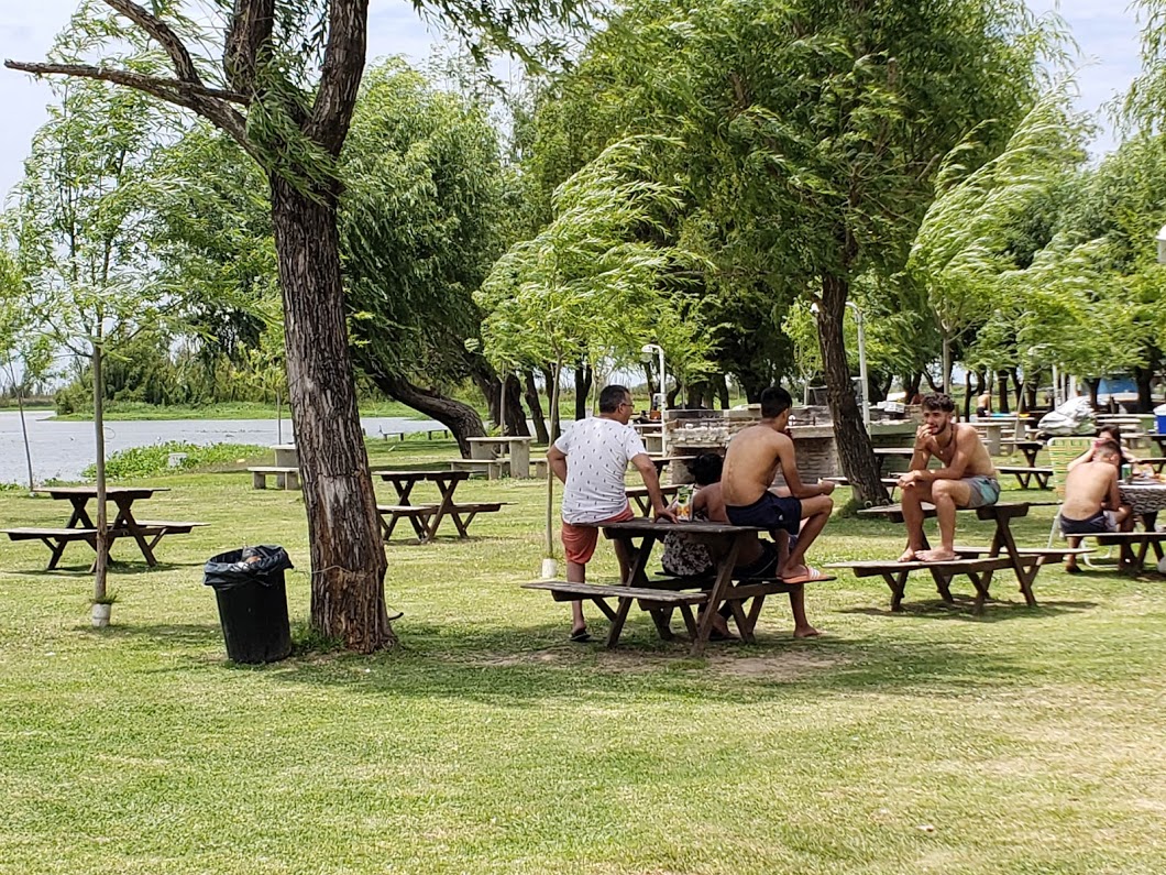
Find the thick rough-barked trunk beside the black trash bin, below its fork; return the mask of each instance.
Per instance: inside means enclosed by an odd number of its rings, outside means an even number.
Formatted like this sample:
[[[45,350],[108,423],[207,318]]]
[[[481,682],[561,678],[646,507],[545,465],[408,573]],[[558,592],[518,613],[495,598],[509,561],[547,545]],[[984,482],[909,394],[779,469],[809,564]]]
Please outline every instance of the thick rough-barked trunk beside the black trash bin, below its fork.
[[[288,388],[311,554],[311,624],[371,653],[396,644],[385,609],[385,546],[340,281],[336,196],[271,175]]]

